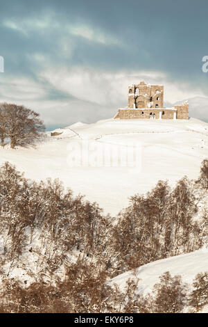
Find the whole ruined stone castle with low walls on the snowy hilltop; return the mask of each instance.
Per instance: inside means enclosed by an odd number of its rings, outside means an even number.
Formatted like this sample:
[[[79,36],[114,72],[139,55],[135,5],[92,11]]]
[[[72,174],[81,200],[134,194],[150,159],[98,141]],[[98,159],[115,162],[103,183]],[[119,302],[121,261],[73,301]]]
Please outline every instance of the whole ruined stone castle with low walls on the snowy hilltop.
[[[189,104],[164,108],[164,86],[141,81],[128,87],[128,107],[119,109],[120,119],[189,119]]]

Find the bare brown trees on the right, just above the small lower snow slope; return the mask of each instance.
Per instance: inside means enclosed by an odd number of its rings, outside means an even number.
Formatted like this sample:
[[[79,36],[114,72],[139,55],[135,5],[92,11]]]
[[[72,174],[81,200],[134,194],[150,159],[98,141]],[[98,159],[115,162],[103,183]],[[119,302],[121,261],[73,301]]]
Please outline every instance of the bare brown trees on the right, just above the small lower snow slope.
[[[184,177],[173,190],[159,181],[146,196],[131,198],[116,225],[121,271],[202,246],[204,219],[195,219],[200,200],[195,188]]]

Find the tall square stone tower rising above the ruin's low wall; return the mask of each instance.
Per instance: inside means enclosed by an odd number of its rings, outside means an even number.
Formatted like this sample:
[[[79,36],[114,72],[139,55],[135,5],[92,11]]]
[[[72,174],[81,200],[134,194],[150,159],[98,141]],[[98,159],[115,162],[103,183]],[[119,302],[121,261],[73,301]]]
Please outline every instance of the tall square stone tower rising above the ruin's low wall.
[[[141,81],[128,88],[128,108],[163,108],[164,86]]]

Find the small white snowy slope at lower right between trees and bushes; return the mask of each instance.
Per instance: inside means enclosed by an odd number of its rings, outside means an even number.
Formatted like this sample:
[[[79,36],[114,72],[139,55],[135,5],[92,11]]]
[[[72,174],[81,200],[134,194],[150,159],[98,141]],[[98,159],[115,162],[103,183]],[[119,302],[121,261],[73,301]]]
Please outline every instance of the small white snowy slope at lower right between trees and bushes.
[[[169,271],[171,276],[181,275],[183,282],[191,284],[198,273],[208,271],[208,249],[150,262],[136,269],[136,273],[127,271],[112,278],[110,284],[116,284],[120,289],[124,289],[129,278],[139,278],[137,292],[146,294],[159,282],[159,276],[166,271]]]

